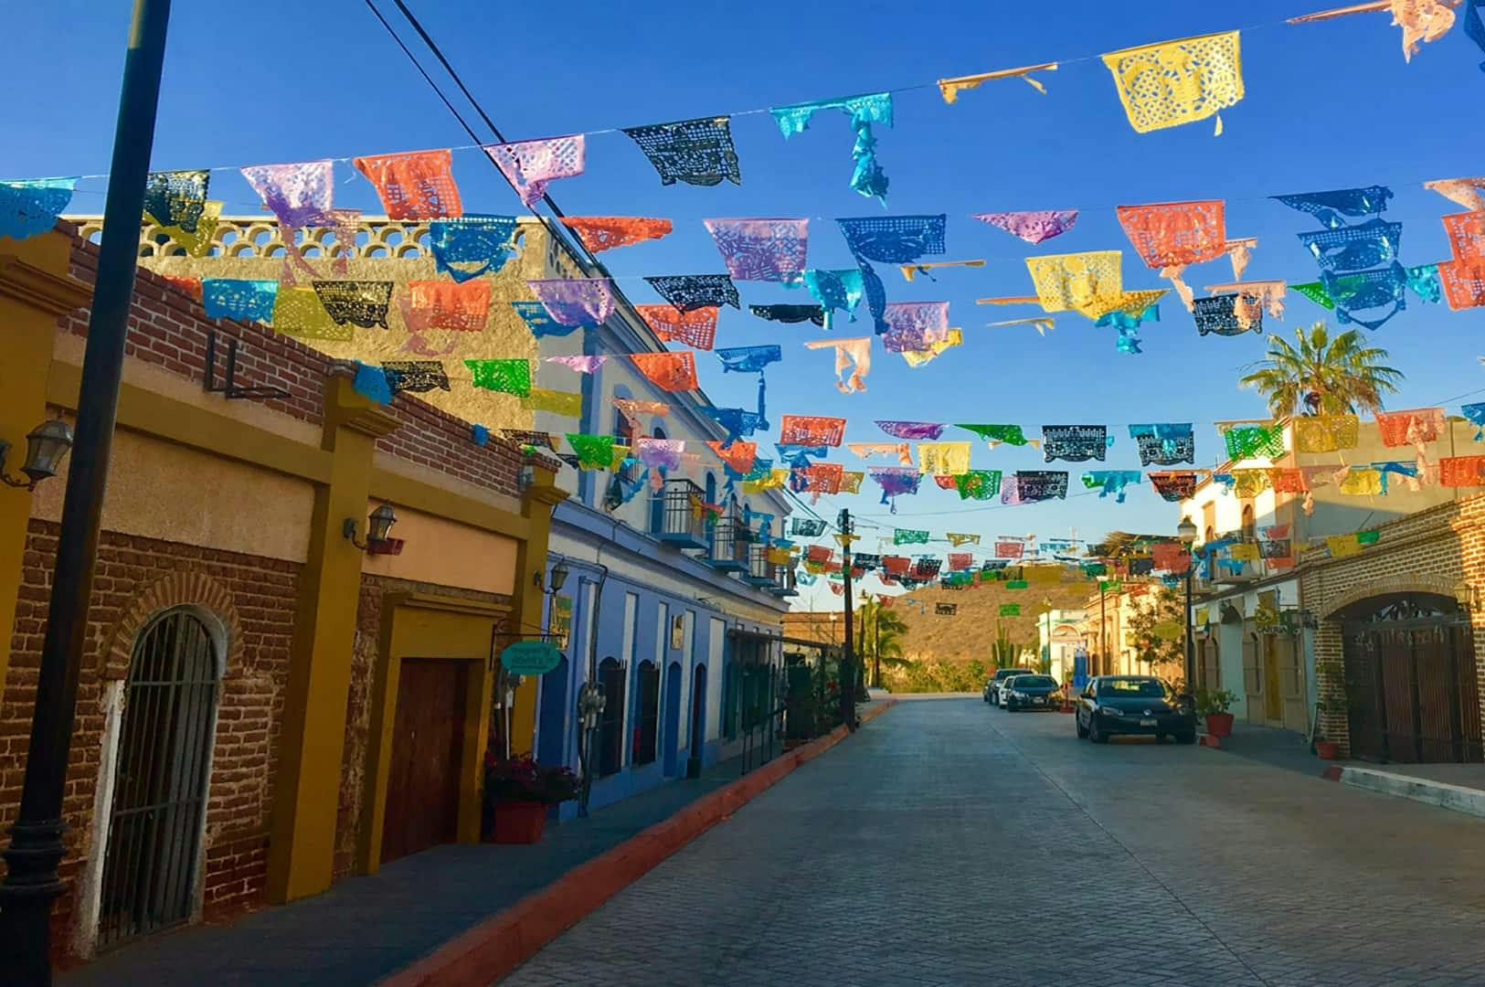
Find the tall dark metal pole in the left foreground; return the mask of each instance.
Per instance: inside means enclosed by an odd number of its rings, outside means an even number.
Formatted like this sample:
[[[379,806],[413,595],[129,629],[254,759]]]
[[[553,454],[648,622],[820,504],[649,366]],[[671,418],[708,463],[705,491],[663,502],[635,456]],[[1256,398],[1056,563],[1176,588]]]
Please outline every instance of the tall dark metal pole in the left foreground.
[[[98,249],[98,281],[77,398],[77,429],[31,717],[31,745],[25,758],[21,810],[10,827],[10,846],[4,850],[4,883],[0,883],[0,983],[10,987],[45,987],[52,983],[50,913],[52,901],[62,891],[56,865],[62,859],[62,833],[67,828],[62,822],[62,791],[169,15],[169,0],[135,0],[129,25]]]

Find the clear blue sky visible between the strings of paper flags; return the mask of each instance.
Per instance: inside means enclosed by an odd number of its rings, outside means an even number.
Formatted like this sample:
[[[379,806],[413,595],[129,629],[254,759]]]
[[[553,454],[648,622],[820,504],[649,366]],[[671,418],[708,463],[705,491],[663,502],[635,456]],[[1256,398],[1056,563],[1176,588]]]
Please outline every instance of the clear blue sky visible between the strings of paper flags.
[[[10,13],[12,39],[24,43],[13,45],[0,65],[0,86],[12,94],[0,175],[107,169],[126,6],[53,1]],[[389,0],[382,6],[395,21]],[[1313,281],[1316,266],[1293,235],[1316,224],[1265,196],[1374,183],[1396,193],[1388,218],[1405,224],[1405,263],[1430,263],[1448,255],[1439,217],[1460,208],[1421,183],[1485,172],[1485,131],[1470,110],[1478,99],[1469,96],[1485,88],[1482,53],[1463,30],[1457,25],[1408,65],[1387,15],[1283,25],[1287,16],[1326,6],[1320,0],[1068,0],[1050,7],[983,0],[922,7],[863,0],[745,6],[411,0],[408,6],[511,140],[740,114],[1060,61],[1059,71],[1042,76],[1048,95],[1005,80],[944,105],[928,85],[895,95],[895,126],[876,128],[879,160],[891,178],[888,212],[946,212],[944,257],[988,261],[980,270],[947,270],[937,282],[910,285],[895,270],[882,272],[891,300],[950,301],[950,325],[965,332],[961,349],[919,370],[878,349],[869,390],[845,396],[833,386],[830,352],[802,346],[821,335],[812,325],[784,327],[723,310],[717,346],[784,346],[784,362],[769,371],[775,426],[783,413],[843,416],[849,441],[885,441],[873,419],[1011,422],[1028,433],[1042,423],[1109,423],[1118,441],[1102,468],[1138,469],[1124,424],[1195,422],[1198,460],[1212,465],[1219,444],[1210,422],[1262,416],[1258,398],[1238,390],[1236,377],[1238,367],[1262,356],[1265,337],[1198,338],[1172,295],[1161,307],[1163,321],[1142,331],[1143,355],[1127,356],[1115,352],[1112,331],[1094,329],[1075,315],[1059,316],[1045,338],[1026,327],[986,328],[988,321],[1038,310],[976,306],[974,298],[1032,294],[1026,255],[1089,249],[1124,249],[1129,288],[1164,286],[1130,249],[1114,206],[1207,197],[1227,199],[1230,236],[1259,237],[1249,278]],[[1225,135],[1213,138],[1210,122],[1136,134],[1097,53],[1231,28],[1252,30],[1241,40],[1247,95],[1224,113]],[[639,281],[643,275],[723,270],[702,218],[812,217],[811,264],[843,267],[849,254],[829,220],[882,212],[846,184],[852,135],[842,114],[817,116],[809,131],[787,142],[766,113],[737,116],[732,126],[741,187],[662,187],[633,142],[612,132],[588,138],[585,175],[554,183],[551,191],[570,215],[674,220],[670,237],[603,255],[634,301],[658,300]],[[156,168],[468,142],[359,1],[175,4]],[[342,205],[376,208],[371,187],[349,166],[340,177]],[[456,154],[454,177],[469,211],[520,209],[478,153]],[[101,209],[102,188],[102,181],[85,181],[73,208]],[[227,200],[229,211],[255,211],[255,197],[235,174],[215,174],[212,193]],[[1078,208],[1083,215],[1071,233],[1041,246],[968,218],[1044,208]],[[1200,289],[1230,276],[1227,263],[1215,261],[1192,269],[1189,282]],[[777,285],[742,283],[742,294],[744,306],[806,300]],[[1289,332],[1322,315],[1290,294],[1286,321],[1270,321],[1268,328]],[[1377,331],[1375,341],[1408,374],[1391,407],[1485,389],[1475,361],[1485,352],[1476,344],[1482,329],[1485,310],[1454,313],[1414,300]],[[864,322],[838,329],[867,331]],[[717,404],[751,405],[751,376],[723,377],[704,353],[698,362]],[[944,438],[961,436],[950,430]],[[839,457],[848,469],[867,465],[845,450]],[[977,445],[973,465],[1008,472],[1041,468],[1040,459],[1031,448]],[[1081,466],[1066,468],[1077,487]],[[820,511],[833,517],[843,503],[885,528],[895,522],[936,534],[980,533],[985,540],[1013,533],[1065,537],[1072,528],[1080,536],[1170,530],[1176,519],[1173,506],[1148,485],[1132,488],[1124,505],[1080,496],[986,511],[925,484],[918,497],[900,499],[895,519],[876,503],[870,481],[863,490],[857,497],[823,499]]]

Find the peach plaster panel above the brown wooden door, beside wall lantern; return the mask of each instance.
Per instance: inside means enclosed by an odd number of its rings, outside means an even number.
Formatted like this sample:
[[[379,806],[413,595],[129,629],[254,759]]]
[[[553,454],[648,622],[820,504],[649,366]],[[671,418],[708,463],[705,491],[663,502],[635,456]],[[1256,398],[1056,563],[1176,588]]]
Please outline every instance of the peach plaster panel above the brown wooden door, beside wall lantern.
[[[362,534],[365,518],[380,505],[376,499],[367,503],[358,518]],[[515,589],[515,551],[520,545],[515,539],[398,505],[394,508],[396,524],[392,537],[402,539],[402,554],[367,555],[361,571],[500,595],[511,595]]]

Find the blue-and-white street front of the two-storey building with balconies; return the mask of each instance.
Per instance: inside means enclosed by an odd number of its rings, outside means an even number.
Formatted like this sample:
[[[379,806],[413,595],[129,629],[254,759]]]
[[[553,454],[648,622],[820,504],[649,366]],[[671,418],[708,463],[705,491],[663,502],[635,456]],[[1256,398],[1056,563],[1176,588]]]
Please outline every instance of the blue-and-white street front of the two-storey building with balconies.
[[[548,263],[554,276],[585,276],[570,254]],[[665,349],[627,300],[597,329],[541,343],[542,356],[610,356],[582,377],[576,430],[619,445],[639,436],[685,442],[683,462],[664,476],[637,465],[569,466],[558,476],[575,491],[552,517],[548,551],[548,565],[569,573],[549,617],[549,629],[566,632],[564,660],[542,677],[533,750],[541,763],[579,767],[578,698],[595,683],[604,708],[588,804],[598,807],[740,752],[748,729],[777,706],[783,614],[794,591],[792,567],[769,560],[768,542],[784,533],[792,502],[781,490],[728,482],[707,447],[726,432],[705,413],[704,393],[662,390],[631,361],[612,358]],[[572,430],[572,419],[542,413],[536,429]]]

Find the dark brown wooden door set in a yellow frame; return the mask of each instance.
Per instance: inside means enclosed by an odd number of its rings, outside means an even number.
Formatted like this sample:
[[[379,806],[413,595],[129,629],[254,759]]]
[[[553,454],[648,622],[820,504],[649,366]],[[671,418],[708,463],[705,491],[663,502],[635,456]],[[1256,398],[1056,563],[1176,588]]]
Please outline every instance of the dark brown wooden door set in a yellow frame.
[[[396,684],[382,862],[459,836],[466,662],[404,658]]]

